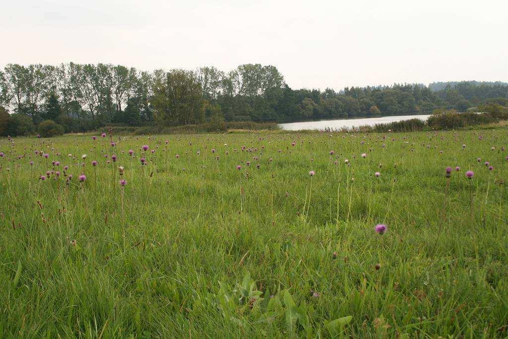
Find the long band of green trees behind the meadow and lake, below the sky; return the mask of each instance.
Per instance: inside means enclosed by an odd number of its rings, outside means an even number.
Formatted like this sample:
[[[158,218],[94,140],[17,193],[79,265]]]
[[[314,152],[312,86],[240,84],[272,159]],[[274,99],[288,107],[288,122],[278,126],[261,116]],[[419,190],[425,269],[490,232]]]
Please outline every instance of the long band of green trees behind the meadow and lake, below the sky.
[[[3,134],[26,134],[44,120],[65,132],[82,132],[106,125],[289,122],[466,111],[485,103],[506,106],[507,99],[505,82],[292,89],[276,67],[260,64],[229,72],[215,67],[145,72],[110,64],[9,64],[0,71],[0,132],[3,128]]]

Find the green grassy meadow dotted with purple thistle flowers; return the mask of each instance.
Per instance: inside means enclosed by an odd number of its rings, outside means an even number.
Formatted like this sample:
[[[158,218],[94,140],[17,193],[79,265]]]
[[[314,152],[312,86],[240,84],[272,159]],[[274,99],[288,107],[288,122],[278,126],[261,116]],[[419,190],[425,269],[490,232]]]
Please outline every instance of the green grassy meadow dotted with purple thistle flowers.
[[[506,127],[105,132],[0,139],[0,337],[508,335]]]

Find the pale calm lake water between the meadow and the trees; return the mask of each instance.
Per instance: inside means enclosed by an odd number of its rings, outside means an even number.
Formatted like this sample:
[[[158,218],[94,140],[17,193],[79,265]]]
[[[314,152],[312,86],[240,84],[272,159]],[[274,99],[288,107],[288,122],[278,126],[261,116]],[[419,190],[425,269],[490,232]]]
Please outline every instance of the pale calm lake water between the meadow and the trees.
[[[392,121],[401,121],[418,118],[427,120],[430,115],[391,115],[391,116],[378,116],[375,118],[356,118],[356,119],[337,119],[337,120],[320,120],[320,121],[305,121],[305,122],[290,122],[289,124],[279,124],[280,128],[288,131],[297,130],[324,130],[341,128],[353,128],[359,126],[374,126],[375,124],[386,124]]]

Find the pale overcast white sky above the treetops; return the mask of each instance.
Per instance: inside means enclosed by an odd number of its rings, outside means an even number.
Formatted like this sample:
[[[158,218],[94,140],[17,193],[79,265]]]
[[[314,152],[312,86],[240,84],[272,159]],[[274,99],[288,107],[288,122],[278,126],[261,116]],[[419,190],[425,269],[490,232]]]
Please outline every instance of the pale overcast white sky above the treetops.
[[[0,67],[276,66],[293,88],[508,80],[508,0],[2,0]]]

